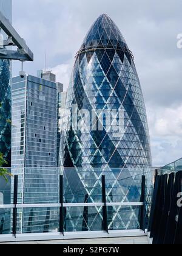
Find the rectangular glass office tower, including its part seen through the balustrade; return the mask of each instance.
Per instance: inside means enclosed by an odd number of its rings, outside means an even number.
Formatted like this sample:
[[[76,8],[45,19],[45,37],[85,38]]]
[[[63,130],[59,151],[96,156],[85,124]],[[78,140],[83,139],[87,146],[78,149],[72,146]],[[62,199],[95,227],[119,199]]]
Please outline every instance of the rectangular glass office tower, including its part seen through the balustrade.
[[[12,173],[19,174],[19,203],[58,203],[57,102],[55,82],[12,79]],[[57,228],[57,221],[57,209],[19,210],[18,231],[42,232]]]

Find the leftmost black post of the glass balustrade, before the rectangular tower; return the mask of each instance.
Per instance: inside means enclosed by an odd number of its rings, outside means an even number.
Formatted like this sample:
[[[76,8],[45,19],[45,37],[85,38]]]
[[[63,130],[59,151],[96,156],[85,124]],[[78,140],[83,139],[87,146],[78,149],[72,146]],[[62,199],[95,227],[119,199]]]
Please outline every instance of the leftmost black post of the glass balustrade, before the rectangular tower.
[[[15,175],[15,177],[14,177],[13,204],[15,205],[15,207],[13,208],[13,230],[12,230],[12,233],[16,238],[16,232],[17,232],[17,208],[16,208],[16,205],[18,204],[18,175]]]

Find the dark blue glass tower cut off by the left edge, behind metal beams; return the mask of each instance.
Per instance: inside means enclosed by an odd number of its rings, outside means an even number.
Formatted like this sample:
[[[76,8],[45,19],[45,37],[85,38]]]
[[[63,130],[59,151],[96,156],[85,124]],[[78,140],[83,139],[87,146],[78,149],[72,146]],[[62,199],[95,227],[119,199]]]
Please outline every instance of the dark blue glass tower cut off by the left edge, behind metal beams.
[[[0,10],[5,17],[12,21],[12,0],[0,0]],[[1,40],[6,39],[2,30]],[[0,49],[3,46],[0,46]],[[10,166],[11,151],[11,67],[9,60],[0,59],[0,152]]]

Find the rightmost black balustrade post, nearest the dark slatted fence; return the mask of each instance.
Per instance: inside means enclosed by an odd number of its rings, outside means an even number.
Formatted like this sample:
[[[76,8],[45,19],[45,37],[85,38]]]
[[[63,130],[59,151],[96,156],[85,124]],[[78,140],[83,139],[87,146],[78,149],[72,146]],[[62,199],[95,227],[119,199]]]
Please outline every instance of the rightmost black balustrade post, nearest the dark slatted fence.
[[[141,202],[143,202],[143,205],[141,206],[141,213],[140,213],[140,229],[145,231],[146,229],[146,221],[145,221],[145,215],[146,215],[146,176],[142,176],[141,181]]]

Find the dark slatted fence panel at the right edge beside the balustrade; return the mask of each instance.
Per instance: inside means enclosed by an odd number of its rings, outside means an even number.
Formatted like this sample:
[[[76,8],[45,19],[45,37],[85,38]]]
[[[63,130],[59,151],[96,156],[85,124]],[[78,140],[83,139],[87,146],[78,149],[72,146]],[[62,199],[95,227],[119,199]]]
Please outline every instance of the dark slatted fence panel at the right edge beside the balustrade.
[[[156,176],[149,229],[153,244],[182,244],[182,171]]]

